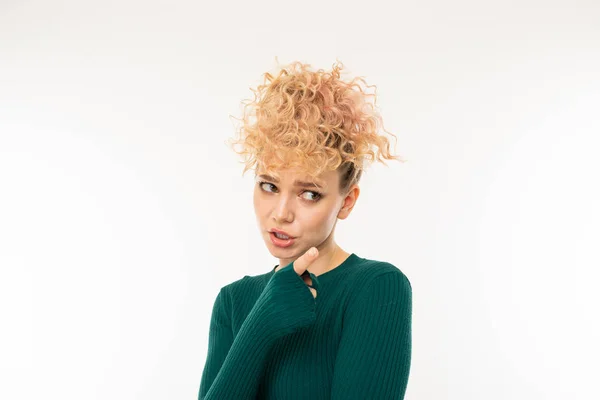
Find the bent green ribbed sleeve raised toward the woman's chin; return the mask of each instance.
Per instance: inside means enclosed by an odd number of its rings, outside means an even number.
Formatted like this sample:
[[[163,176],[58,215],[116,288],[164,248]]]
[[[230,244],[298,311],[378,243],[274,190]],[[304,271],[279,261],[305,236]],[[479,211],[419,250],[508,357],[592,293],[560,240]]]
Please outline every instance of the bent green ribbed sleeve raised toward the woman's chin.
[[[318,290],[317,277],[310,275]],[[222,304],[222,297],[215,303]],[[233,340],[223,323],[226,311],[217,307],[211,321],[214,337],[209,339],[214,348],[208,353],[198,399],[256,399],[271,347],[282,336],[312,324],[315,310],[315,298],[293,263],[271,276]]]

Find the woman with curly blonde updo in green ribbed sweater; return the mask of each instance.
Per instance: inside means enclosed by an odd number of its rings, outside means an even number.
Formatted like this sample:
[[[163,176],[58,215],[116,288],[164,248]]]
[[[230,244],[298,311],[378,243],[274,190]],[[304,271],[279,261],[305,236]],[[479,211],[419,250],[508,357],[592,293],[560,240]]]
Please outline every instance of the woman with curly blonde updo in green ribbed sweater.
[[[364,80],[342,80],[342,68],[295,62],[266,73],[245,107],[236,152],[243,173],[256,166],[257,223],[279,264],[221,288],[199,399],[404,398],[411,284],[334,240],[366,158],[398,159],[377,134]]]

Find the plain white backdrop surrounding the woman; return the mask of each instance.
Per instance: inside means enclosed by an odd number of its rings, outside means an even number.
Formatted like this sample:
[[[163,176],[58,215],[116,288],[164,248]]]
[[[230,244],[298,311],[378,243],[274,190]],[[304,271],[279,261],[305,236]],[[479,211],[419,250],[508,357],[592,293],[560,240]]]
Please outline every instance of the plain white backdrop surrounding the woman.
[[[0,1],[0,398],[195,399],[268,271],[229,114],[300,60],[408,161],[336,239],[411,280],[406,399],[598,399],[600,5]]]

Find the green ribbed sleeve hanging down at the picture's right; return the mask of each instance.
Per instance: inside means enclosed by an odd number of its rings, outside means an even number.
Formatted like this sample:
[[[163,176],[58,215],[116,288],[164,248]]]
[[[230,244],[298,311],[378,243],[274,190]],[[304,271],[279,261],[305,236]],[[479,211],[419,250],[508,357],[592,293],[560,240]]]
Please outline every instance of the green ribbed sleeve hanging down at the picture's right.
[[[350,301],[331,386],[332,400],[404,399],[411,363],[412,287],[385,272]]]

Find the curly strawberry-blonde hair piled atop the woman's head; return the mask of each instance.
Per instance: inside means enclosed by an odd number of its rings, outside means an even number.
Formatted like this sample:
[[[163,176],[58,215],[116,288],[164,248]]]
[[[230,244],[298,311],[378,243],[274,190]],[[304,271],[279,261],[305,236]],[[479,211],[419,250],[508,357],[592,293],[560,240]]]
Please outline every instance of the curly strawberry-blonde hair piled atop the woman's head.
[[[242,101],[237,139],[227,141],[243,157],[242,175],[255,166],[274,176],[280,168],[299,168],[314,182],[322,172],[337,169],[339,190],[345,193],[358,183],[367,161],[386,166],[385,159],[405,161],[391,155],[389,140],[378,134],[380,126],[387,131],[376,110],[376,86],[366,85],[362,77],[342,80],[343,67],[336,59],[331,72],[314,71],[295,61],[276,75],[263,74],[263,83],[250,88],[254,99]],[[375,93],[366,93],[360,83]]]

